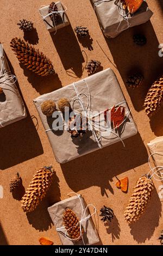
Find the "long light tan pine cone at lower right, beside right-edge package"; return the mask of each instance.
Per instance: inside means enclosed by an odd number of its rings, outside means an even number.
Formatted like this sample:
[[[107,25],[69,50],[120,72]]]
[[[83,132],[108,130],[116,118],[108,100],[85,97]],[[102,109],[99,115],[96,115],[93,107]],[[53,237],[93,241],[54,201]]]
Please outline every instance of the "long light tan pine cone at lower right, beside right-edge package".
[[[133,194],[124,212],[126,222],[131,223],[139,220],[141,214],[146,210],[153,188],[153,181],[146,175],[137,180]]]

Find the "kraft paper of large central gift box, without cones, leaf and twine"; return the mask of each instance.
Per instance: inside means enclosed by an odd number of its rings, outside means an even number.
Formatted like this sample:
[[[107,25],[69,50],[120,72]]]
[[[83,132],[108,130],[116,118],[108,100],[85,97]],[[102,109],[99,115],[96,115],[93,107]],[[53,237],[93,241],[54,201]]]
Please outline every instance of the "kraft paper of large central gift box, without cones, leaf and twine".
[[[80,80],[76,82],[75,86],[78,89],[78,92],[87,95],[88,88],[86,87],[85,82],[90,90],[92,112],[104,112],[105,109],[123,102],[121,106],[125,107],[128,120],[122,125],[123,127],[120,127],[122,128],[120,129],[122,130],[120,137],[124,140],[136,135],[136,125],[129,113],[127,102],[124,99],[120,84],[118,83],[114,72],[109,68],[98,72],[95,75],[86,77],[85,81]],[[86,155],[99,149],[98,143],[94,141],[91,131],[86,132],[82,138],[71,138],[70,133],[67,131],[49,131],[49,129],[52,128],[54,118],[47,118],[46,115],[43,115],[41,111],[42,102],[46,100],[54,100],[57,103],[62,97],[67,98],[71,102],[76,95],[73,84],[70,84],[69,86],[58,89],[52,93],[39,96],[34,100],[35,106],[42,120],[42,124],[47,131],[47,136],[51,143],[55,159],[59,163],[66,163],[79,156]],[[83,100],[85,100],[85,105],[87,105],[85,97],[83,97]],[[81,112],[78,102],[75,104],[75,110]],[[106,147],[119,141],[120,138],[115,136],[114,133],[109,132],[108,137],[102,138],[101,144],[102,147]]]

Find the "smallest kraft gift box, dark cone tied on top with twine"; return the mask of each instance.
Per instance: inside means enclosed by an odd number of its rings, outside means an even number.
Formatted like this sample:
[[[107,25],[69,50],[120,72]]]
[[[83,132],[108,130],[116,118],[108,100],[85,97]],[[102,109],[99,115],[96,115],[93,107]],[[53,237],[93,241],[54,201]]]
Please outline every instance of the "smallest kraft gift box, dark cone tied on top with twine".
[[[48,5],[41,7],[39,12],[42,16],[43,22],[47,30],[57,33],[57,30],[70,25],[66,14],[66,7],[61,2],[55,3],[55,5]]]

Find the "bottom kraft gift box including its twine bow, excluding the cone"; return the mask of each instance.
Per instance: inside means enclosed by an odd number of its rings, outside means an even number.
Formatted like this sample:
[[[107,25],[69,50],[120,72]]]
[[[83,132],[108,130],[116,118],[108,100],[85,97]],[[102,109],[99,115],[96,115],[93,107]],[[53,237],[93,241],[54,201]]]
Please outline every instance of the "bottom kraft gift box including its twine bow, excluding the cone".
[[[94,211],[92,214],[90,214],[88,206],[93,208]],[[63,245],[93,245],[99,242],[97,230],[91,218],[91,216],[96,214],[96,208],[90,204],[88,206],[84,198],[80,194],[77,194],[77,196],[62,200],[48,208],[49,215]],[[77,239],[70,237],[68,231],[71,231],[71,228],[66,231],[64,226],[63,216],[66,209],[71,209],[78,218],[78,223],[73,224],[74,229],[80,227],[78,230],[81,230],[78,231],[79,235],[76,235],[78,236]],[[78,241],[78,238],[80,241]]]

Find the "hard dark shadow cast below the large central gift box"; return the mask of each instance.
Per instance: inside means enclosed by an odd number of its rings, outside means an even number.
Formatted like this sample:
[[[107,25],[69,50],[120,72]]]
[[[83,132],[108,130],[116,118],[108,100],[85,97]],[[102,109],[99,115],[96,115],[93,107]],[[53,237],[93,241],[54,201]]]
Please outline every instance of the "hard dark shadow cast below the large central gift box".
[[[126,139],[124,144],[125,148],[119,142],[61,164],[68,186],[74,192],[98,186],[102,196],[108,197],[108,191],[114,193],[109,183],[113,177],[148,162],[147,149],[139,133]]]

